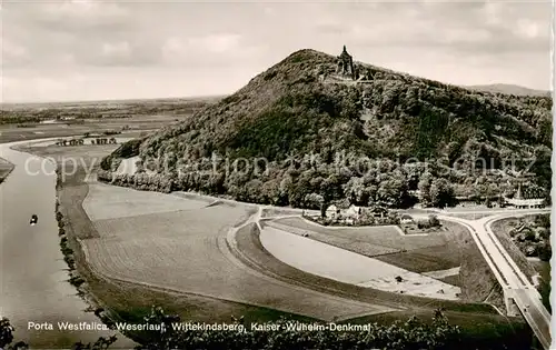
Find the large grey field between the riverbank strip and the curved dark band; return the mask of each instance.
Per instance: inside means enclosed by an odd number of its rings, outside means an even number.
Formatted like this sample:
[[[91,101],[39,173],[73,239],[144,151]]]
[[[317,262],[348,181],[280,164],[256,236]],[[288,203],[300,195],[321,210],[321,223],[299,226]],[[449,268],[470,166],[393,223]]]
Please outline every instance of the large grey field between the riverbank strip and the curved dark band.
[[[322,320],[385,310],[369,303],[264,279],[235,262],[227,251],[224,237],[231,227],[247,219],[248,211],[242,206],[196,208],[198,202],[190,203],[190,200],[171,194],[125,188],[110,188],[107,191],[93,189],[91,187],[88,196],[87,210],[98,213],[105,210],[106,203],[111,202],[107,212],[125,216],[101,220],[100,214],[91,216],[97,218],[93,226],[100,237],[83,240],[82,244],[92,269],[102,276]],[[139,194],[130,194],[129,191]],[[152,196],[152,200],[135,200],[133,196]],[[158,202],[158,196],[181,201],[190,209],[172,208],[172,211],[145,214],[151,203]],[[119,200],[126,197],[133,202],[133,210],[143,214],[129,216],[130,201]],[[267,288],[261,289],[261,283]]]

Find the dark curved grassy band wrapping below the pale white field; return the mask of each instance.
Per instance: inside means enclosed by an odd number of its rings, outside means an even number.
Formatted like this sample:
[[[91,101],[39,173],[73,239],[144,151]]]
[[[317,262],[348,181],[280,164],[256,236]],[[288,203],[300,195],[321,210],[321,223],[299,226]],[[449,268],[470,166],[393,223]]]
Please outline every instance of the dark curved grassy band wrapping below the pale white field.
[[[317,290],[332,291],[338,294],[390,306],[393,308],[399,306],[405,308],[391,312],[351,319],[349,320],[351,323],[390,323],[399,320],[405,321],[413,316],[417,316],[419,319],[428,321],[430,320],[434,309],[443,308],[450,323],[461,327],[466,344],[473,346],[474,341],[492,341],[494,344],[513,344],[516,339],[519,339],[520,343],[530,341],[530,330],[523,320],[502,317],[493,312],[486,304],[431,300],[407,294],[389,293],[342,283],[292,268],[279,261],[264,249],[259,240],[259,231],[255,224],[246,226],[239,230],[237,241],[240,250],[247,254],[246,263],[249,263],[254,268],[259,267],[266,273],[271,273],[275,277],[278,276],[290,283],[310,286]],[[481,332],[481,329],[485,331]],[[500,337],[504,337],[504,339]],[[512,340],[505,342],[507,339]],[[525,342],[523,340],[525,340]],[[493,349],[498,348],[496,347]]]

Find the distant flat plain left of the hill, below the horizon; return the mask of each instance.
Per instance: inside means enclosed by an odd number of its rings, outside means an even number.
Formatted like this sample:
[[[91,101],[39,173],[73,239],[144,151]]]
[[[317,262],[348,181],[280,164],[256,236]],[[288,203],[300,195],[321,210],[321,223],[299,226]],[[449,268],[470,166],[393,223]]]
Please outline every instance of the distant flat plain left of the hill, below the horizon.
[[[220,98],[1,106],[0,142],[106,131],[157,130],[189,118]]]

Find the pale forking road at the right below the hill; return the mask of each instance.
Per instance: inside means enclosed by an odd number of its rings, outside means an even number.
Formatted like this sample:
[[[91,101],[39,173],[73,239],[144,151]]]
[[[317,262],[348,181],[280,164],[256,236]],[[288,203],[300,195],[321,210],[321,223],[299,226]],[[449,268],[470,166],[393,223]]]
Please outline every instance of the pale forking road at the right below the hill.
[[[519,270],[493,232],[492,224],[505,218],[549,212],[550,209],[506,210],[496,211],[495,214],[479,220],[466,220],[443,213],[438,216],[440,220],[454,221],[469,229],[505,293],[514,298],[519,311],[545,349],[550,348],[550,314],[544,307],[539,292]]]

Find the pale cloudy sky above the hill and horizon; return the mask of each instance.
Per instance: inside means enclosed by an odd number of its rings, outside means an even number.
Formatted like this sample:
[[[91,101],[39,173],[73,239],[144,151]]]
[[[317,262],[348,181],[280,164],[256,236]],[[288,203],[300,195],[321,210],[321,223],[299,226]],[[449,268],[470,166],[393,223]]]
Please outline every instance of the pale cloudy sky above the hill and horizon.
[[[4,102],[231,93],[311,48],[458,84],[550,88],[552,4],[3,0]]]

